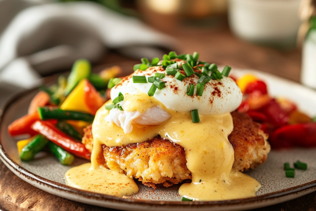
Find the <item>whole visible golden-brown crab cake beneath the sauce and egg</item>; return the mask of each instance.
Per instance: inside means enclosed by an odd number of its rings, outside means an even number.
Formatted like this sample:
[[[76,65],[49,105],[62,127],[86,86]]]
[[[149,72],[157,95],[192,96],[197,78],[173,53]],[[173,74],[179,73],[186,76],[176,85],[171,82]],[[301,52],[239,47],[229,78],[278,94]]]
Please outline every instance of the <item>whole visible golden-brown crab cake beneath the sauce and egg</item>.
[[[234,130],[228,140],[234,148],[233,168],[246,171],[266,160],[270,152],[268,136],[260,129],[260,124],[253,122],[248,115],[238,112],[231,114]],[[82,143],[92,151],[91,125],[84,132]],[[128,177],[138,178],[150,187],[168,187],[191,179],[191,172],[186,167],[184,148],[160,136],[124,147],[103,145],[102,148],[105,159],[101,163],[104,163],[104,166],[119,169]]]

